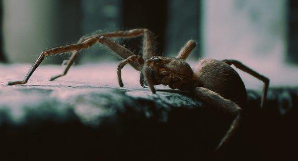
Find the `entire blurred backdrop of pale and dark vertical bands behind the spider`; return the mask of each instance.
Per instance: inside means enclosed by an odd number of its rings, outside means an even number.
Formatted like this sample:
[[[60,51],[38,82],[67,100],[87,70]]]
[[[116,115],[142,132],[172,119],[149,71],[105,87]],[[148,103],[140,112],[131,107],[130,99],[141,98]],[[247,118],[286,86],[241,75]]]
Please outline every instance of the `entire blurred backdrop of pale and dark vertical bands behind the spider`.
[[[0,0],[0,61],[33,63],[41,51],[75,43],[93,32],[149,28],[156,52],[175,56],[193,39],[200,57],[238,59],[271,79],[271,85],[298,82],[298,1],[296,0]],[[118,40],[140,54],[141,38]],[[76,64],[118,61],[101,45],[80,54]],[[61,64],[68,55],[44,63]],[[261,82],[240,72],[246,86]]]

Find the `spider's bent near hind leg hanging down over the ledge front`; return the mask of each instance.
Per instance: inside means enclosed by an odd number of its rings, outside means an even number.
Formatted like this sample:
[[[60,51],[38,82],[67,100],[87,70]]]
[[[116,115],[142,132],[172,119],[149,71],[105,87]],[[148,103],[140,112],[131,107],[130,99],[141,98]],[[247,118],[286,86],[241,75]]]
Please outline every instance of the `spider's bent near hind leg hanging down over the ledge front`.
[[[231,113],[232,115],[236,116],[233,122],[231,123],[228,131],[225,133],[224,137],[222,138],[220,144],[217,146],[217,150],[219,150],[228,141],[231,135],[235,132],[240,120],[240,113],[242,109],[237,104],[233,103],[230,100],[225,99],[224,97],[220,96],[218,93],[213,92],[207,88],[196,87],[194,89],[194,94],[198,98],[209,103],[211,107],[218,107],[218,108],[224,109],[229,113]]]

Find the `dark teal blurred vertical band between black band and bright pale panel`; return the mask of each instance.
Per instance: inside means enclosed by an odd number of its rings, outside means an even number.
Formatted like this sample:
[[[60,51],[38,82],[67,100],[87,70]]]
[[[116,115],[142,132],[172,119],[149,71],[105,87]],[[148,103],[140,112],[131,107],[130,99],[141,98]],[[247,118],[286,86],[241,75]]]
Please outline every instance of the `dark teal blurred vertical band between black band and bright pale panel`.
[[[192,39],[197,42],[197,47],[188,60],[198,60],[203,53],[202,0],[169,0],[167,5],[166,53],[168,56],[176,56],[180,48]]]

